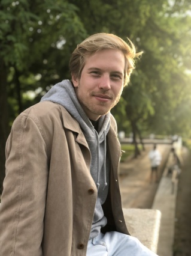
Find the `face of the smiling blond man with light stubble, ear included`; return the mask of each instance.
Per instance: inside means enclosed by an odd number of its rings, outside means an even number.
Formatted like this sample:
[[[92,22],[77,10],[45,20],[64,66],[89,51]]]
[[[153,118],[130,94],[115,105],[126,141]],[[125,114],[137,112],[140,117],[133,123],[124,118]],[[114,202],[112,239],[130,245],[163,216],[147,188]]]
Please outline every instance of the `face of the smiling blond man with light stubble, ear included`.
[[[72,76],[78,101],[91,120],[98,120],[119,102],[124,69],[123,53],[104,49],[86,58],[80,79]]]

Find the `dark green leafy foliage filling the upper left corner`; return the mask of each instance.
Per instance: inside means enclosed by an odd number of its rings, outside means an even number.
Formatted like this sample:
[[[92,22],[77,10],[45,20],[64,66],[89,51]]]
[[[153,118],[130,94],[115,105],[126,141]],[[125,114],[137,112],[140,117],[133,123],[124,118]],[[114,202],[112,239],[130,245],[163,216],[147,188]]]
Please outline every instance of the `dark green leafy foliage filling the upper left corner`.
[[[5,64],[27,72],[49,51],[59,51],[60,38],[81,39],[86,33],[76,11],[68,1],[2,1],[0,54]]]

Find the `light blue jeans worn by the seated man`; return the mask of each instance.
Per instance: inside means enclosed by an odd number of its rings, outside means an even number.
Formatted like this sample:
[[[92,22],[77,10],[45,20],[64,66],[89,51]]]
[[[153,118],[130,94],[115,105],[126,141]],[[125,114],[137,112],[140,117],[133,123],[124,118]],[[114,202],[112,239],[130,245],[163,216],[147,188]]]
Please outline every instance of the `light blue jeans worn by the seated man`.
[[[140,240],[116,231],[90,239],[87,256],[156,256]]]

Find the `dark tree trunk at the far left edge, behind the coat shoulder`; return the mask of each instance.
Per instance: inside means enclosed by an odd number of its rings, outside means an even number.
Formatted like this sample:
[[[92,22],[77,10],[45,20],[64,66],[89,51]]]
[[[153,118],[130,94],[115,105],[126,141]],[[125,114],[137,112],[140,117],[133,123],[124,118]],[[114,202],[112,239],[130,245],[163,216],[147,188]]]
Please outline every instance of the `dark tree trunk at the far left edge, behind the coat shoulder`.
[[[5,177],[5,144],[8,136],[7,72],[0,57],[0,194]]]

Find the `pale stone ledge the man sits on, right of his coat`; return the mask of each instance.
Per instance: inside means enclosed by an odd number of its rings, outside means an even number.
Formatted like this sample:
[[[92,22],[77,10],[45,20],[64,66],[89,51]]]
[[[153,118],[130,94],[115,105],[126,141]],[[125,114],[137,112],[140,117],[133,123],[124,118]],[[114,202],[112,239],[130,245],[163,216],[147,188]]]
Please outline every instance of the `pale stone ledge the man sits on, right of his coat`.
[[[155,209],[123,208],[123,214],[129,233],[156,253],[160,230],[160,211]]]

